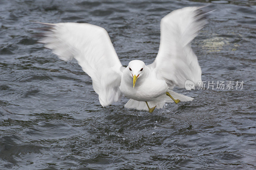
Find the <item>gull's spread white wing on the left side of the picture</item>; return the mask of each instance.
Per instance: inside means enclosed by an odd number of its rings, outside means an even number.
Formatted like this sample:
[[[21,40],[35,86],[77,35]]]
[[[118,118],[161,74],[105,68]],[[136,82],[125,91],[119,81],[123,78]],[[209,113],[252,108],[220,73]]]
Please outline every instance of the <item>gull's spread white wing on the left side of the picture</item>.
[[[120,99],[122,64],[104,28],[88,23],[40,24],[48,27],[39,42],[64,61],[77,60],[92,78],[93,89],[103,107]]]

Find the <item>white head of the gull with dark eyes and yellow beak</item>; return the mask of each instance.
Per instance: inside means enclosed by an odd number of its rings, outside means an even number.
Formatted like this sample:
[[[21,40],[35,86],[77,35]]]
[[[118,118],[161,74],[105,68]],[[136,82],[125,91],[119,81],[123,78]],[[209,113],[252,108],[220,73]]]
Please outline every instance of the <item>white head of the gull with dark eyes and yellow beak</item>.
[[[128,64],[127,68],[133,79],[133,88],[139,76],[141,77],[145,70],[145,63],[141,60],[132,60]]]

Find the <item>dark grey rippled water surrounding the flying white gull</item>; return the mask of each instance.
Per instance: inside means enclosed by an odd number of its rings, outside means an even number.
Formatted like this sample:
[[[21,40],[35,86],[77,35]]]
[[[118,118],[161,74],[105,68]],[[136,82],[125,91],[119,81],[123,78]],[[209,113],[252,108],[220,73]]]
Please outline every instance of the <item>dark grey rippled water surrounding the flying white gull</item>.
[[[123,65],[156,57],[160,19],[216,9],[193,41],[203,81],[241,90],[177,92],[192,102],[152,114],[103,108],[76,61],[35,44],[28,22],[89,22],[108,31]],[[0,0],[0,169],[255,169],[256,2]]]

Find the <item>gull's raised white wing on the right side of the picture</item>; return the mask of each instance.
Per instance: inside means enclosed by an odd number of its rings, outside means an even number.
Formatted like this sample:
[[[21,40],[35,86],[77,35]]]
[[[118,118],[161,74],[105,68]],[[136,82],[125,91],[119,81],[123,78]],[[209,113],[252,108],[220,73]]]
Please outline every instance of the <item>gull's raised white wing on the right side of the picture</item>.
[[[185,88],[187,80],[195,85],[201,81],[202,71],[191,48],[191,41],[207,23],[200,15],[201,8],[185,7],[161,19],[159,51],[149,66],[159,78],[167,82],[169,88]]]

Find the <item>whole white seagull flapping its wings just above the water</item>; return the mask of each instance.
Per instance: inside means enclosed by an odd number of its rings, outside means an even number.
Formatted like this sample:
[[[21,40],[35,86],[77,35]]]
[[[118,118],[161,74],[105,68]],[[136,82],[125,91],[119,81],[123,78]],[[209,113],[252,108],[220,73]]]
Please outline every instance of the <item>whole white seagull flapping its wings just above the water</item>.
[[[165,103],[193,100],[172,89],[185,88],[188,80],[194,84],[201,81],[202,71],[191,41],[207,24],[200,12],[203,7],[184,7],[161,19],[159,51],[149,65],[132,60],[127,67],[122,66],[108,32],[96,25],[36,22],[47,26],[36,29],[47,31],[39,40],[45,48],[61,60],[77,60],[92,78],[93,89],[103,107],[120,101],[124,95],[130,99],[125,108],[152,113]]]

